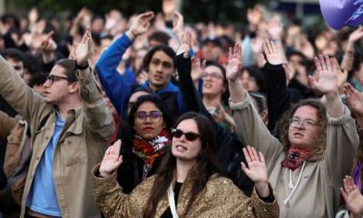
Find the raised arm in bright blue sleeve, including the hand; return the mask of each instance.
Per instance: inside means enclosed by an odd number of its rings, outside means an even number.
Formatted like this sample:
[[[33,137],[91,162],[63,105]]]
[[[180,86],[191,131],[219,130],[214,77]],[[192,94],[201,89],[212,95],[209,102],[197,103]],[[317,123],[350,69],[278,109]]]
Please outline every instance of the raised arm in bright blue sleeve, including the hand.
[[[126,98],[130,94],[132,84],[127,83],[123,75],[117,72],[117,66],[135,37],[147,31],[153,16],[152,12],[138,15],[130,29],[104,51],[95,65],[103,90],[120,115],[123,115],[125,110]]]

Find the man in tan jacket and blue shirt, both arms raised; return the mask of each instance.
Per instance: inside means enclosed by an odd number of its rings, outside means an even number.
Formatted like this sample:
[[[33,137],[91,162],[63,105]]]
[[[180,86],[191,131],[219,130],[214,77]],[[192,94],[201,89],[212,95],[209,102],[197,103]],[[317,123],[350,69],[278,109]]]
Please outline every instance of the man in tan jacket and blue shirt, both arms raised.
[[[54,65],[44,97],[0,57],[0,94],[29,120],[33,133],[21,217],[101,217],[88,192],[90,171],[102,160],[114,124],[88,66],[92,50],[87,29],[76,60]]]

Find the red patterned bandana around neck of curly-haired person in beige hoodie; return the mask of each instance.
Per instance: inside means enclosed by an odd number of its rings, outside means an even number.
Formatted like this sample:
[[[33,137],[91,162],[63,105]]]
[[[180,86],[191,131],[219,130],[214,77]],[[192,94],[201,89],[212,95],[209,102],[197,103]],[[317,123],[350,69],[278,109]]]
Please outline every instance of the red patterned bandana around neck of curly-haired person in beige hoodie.
[[[308,160],[311,155],[312,152],[308,148],[296,148],[290,146],[289,150],[286,152],[285,159],[281,162],[281,164],[294,171],[299,168],[302,163]]]

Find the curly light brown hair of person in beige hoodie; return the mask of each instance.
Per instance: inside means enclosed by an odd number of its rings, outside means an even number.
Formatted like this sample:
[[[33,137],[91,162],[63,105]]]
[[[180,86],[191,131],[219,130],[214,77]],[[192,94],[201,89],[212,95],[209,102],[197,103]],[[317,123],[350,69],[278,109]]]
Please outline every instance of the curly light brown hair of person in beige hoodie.
[[[313,156],[309,158],[309,160],[317,161],[324,157],[324,153],[327,147],[327,126],[328,126],[328,117],[327,117],[327,108],[324,104],[322,104],[317,99],[307,99],[304,101],[299,102],[298,104],[294,104],[291,106],[289,111],[285,112],[282,115],[279,123],[276,124],[276,128],[279,130],[280,133],[280,142],[284,144],[285,151],[289,150],[291,144],[289,143],[289,119],[295,114],[295,112],[301,106],[311,106],[317,109],[318,115],[318,127],[319,132],[316,138],[316,146],[313,150]]]

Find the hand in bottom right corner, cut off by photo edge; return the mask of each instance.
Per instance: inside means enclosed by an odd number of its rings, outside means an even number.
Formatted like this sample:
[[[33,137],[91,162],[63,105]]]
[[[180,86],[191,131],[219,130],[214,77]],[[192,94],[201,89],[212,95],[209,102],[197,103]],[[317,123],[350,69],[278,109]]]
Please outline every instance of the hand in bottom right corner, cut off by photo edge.
[[[340,193],[347,203],[350,212],[349,217],[361,217],[363,214],[363,196],[360,193],[360,190],[358,190],[353,179],[348,175],[343,179],[343,183],[344,189],[340,188]]]

